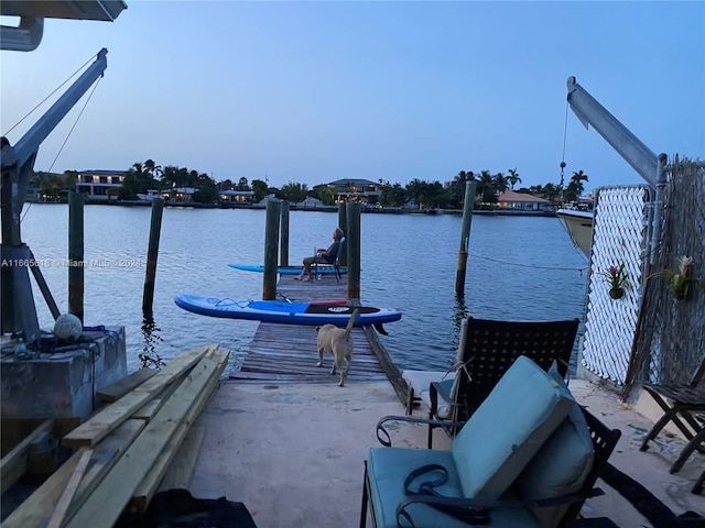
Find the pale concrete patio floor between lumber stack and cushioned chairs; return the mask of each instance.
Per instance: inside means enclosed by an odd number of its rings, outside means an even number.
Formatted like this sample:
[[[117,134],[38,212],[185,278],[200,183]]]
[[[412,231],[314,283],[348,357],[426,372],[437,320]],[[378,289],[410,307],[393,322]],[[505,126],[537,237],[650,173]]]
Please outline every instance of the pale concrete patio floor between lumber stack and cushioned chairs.
[[[571,381],[577,400],[607,426],[622,431],[610,458],[674,514],[705,515],[705,496],[691,493],[705,470],[695,453],[680,473],[670,464],[683,443],[662,435],[647,452],[641,439],[652,422],[625,408],[616,394],[583,380]],[[404,407],[388,382],[252,384],[223,382],[199,421],[207,427],[191,491],[196,497],[242,502],[259,528],[359,526],[364,460],[379,443],[375,426]],[[419,413],[423,415],[422,411]],[[426,429],[401,425],[394,446],[425,447]],[[436,431],[435,449],[449,446]],[[586,503],[586,517],[609,517],[621,527],[655,527],[631,504],[606,492]]]

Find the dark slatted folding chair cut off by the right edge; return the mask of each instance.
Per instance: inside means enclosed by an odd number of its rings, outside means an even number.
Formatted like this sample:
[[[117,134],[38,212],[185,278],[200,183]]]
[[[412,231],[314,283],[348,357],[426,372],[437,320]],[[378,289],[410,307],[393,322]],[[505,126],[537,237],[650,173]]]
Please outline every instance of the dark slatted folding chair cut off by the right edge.
[[[641,443],[641,451],[649,449],[649,440],[653,440],[659,432],[672,421],[688,440],[677,460],[671,465],[671,473],[677,473],[685,464],[687,458],[696,449],[705,453],[705,425],[698,420],[697,413],[705,413],[705,387],[698,384],[705,375],[705,355],[701,366],[688,384],[660,385],[644,383],[643,388],[653,400],[663,409],[663,416],[653,425],[647,438]],[[687,425],[686,425],[687,424]]]

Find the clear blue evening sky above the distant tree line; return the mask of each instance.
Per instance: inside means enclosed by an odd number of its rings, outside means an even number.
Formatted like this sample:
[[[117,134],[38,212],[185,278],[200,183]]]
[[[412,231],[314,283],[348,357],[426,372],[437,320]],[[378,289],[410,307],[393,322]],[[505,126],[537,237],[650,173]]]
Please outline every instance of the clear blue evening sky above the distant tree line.
[[[112,23],[47,20],[36,51],[0,52],[6,134],[108,48],[66,145],[85,99],[35,169],[152,158],[278,187],[510,168],[522,186],[557,183],[572,75],[654,153],[705,158],[702,1],[127,3]],[[565,162],[586,193],[641,183],[572,111]]]

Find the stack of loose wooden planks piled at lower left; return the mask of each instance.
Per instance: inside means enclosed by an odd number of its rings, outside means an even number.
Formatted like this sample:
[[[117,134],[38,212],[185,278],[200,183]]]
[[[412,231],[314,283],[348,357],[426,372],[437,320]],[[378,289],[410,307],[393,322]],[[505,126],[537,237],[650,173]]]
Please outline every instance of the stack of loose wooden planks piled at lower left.
[[[228,356],[208,344],[104,391],[99,396],[113,403],[63,437],[62,446],[75,453],[2,528],[110,528],[126,507],[144,512],[164,488],[160,484],[171,487],[163,481],[183,485],[191,474],[178,476],[171,462],[194,446],[191,454],[197,455],[204,431],[189,428],[218,387]]]

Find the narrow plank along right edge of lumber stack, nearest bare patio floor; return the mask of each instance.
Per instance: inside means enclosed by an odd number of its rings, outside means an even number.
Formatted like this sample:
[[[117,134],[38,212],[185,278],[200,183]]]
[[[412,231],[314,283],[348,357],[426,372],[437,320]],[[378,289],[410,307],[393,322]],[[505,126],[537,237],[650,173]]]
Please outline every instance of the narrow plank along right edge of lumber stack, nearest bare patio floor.
[[[217,354],[218,352],[220,352],[220,354]],[[131,505],[140,513],[144,513],[147,510],[150,501],[154,496],[154,493],[156,493],[162,477],[164,476],[164,473],[166,473],[169,465],[178,451],[191,425],[196,420],[196,418],[198,418],[198,415],[218,386],[220,374],[225,371],[225,367],[228,364],[228,356],[230,353],[227,350],[220,349],[216,351],[216,354],[217,355],[209,354],[207,358],[208,361],[213,361],[216,364],[216,369],[210,375],[206,384],[206,388],[198,394],[194,405],[188,409],[166,446],[158,453],[149,473],[144,476],[132,495]]]

